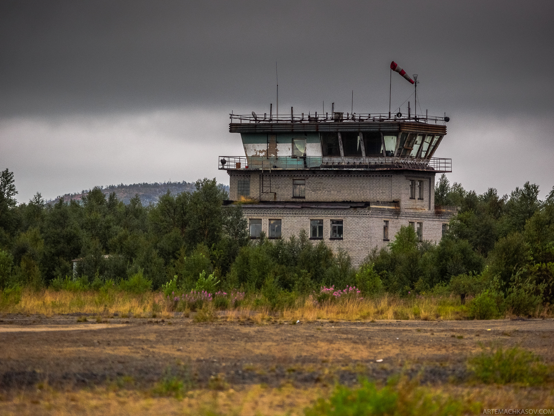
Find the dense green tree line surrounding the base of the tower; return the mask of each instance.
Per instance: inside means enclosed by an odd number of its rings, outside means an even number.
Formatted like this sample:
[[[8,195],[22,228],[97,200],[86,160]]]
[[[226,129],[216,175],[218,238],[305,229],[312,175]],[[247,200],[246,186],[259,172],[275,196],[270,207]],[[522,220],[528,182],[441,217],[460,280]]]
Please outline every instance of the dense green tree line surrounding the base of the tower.
[[[447,235],[436,244],[418,242],[402,227],[388,247],[368,247],[355,270],[346,252],[333,253],[304,231],[289,240],[250,240],[240,205],[223,206],[228,195],[215,179],[194,186],[148,206],[138,196],[126,205],[99,187],[80,201],[47,204],[37,193],[17,204],[13,173],[2,171],[0,288],[39,289],[74,278],[76,259],[84,283],[118,283],[140,272],[153,290],[174,276],[181,290],[191,290],[206,272],[222,290],[268,298],[332,285],[398,296],[488,291],[497,305],[516,297],[546,304],[554,296],[554,188],[543,201],[529,182],[510,195],[493,188],[478,195],[443,174],[435,203],[459,207]]]

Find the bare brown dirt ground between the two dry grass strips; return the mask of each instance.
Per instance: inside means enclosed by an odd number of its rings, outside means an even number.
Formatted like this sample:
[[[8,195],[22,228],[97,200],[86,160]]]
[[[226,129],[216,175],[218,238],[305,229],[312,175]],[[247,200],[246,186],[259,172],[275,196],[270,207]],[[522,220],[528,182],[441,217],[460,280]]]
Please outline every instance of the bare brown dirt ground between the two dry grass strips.
[[[80,388],[132,379],[149,387],[187,371],[198,387],[283,382],[299,387],[399,372],[422,383],[464,381],[465,359],[483,346],[521,346],[554,362],[554,320],[270,321],[196,323],[190,318],[0,317],[0,392]],[[490,330],[489,330],[490,329]],[[382,360],[382,361],[378,361]],[[180,363],[184,363],[182,366]]]

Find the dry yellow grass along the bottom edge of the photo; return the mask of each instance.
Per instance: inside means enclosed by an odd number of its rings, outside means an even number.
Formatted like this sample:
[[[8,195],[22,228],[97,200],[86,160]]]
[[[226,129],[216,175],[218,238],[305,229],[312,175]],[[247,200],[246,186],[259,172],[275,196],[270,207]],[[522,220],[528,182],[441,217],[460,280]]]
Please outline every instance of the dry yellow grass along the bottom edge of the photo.
[[[460,386],[445,384],[434,388],[405,389],[399,386],[404,399],[417,392],[433,397],[459,400],[468,414],[483,414],[487,409],[552,409],[551,387],[522,388],[515,386]],[[227,389],[192,390],[182,399],[151,397],[146,391],[117,389],[114,386],[78,391],[56,392],[50,388],[35,389],[13,397],[0,397],[0,414],[15,415],[302,415],[317,398],[329,397],[331,387],[280,388],[252,385],[235,391]],[[547,410],[548,412],[548,410]],[[466,413],[464,413],[466,414]],[[548,414],[548,413],[546,413]]]

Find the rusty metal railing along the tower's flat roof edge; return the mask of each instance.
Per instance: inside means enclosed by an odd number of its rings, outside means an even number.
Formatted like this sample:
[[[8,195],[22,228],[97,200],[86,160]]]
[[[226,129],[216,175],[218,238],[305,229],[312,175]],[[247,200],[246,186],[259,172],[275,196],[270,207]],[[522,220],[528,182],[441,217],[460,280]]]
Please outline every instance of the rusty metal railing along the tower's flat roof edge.
[[[334,114],[229,114],[231,123],[332,123],[335,121],[413,121],[418,123],[434,123],[441,124],[448,122],[450,119],[447,116],[436,116],[427,114],[403,114],[403,113],[360,113],[350,114],[338,113]]]

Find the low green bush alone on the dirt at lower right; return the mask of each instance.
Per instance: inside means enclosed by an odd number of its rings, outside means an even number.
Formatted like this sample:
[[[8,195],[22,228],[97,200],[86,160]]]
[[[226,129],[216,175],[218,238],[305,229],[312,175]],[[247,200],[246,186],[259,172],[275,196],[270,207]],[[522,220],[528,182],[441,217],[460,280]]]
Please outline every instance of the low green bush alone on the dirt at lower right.
[[[506,349],[502,347],[493,351],[481,352],[470,358],[469,368],[474,377],[483,383],[522,383],[536,385],[545,382],[548,367],[541,362],[541,357],[519,347]]]

